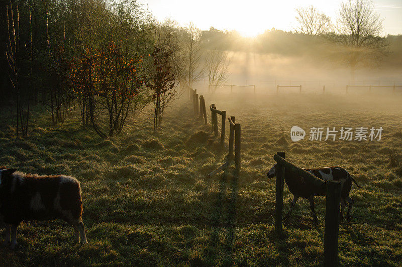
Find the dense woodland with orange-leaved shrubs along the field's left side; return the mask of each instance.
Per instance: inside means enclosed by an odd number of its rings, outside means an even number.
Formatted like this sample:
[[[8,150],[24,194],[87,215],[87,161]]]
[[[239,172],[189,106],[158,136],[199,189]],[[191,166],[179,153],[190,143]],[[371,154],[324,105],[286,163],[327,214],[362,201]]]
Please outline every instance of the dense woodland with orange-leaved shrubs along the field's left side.
[[[217,87],[227,74],[226,53],[205,51],[199,29],[157,22],[136,0],[15,0],[1,8],[0,93],[9,99],[3,107],[16,107],[17,138],[29,133],[33,105],[47,107],[52,125],[74,107],[102,138],[153,105],[156,130],[195,81],[209,72],[220,77],[211,79]]]

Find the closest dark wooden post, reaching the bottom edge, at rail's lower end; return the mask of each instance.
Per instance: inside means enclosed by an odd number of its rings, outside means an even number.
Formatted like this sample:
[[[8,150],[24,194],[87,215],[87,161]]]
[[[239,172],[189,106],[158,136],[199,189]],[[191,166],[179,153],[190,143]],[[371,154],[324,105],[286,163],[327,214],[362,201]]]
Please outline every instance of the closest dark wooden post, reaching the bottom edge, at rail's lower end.
[[[327,181],[325,200],[324,266],[338,264],[339,212],[341,202],[341,183]]]

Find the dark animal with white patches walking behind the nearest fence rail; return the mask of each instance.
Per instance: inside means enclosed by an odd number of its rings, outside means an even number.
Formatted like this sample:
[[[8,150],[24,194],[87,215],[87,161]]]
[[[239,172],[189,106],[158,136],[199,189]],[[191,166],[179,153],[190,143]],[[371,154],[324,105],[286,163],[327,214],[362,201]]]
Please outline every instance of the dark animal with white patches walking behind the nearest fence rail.
[[[276,177],[276,164],[269,170],[267,176],[268,178]],[[343,213],[345,207],[348,206],[348,211],[346,214],[347,221],[350,222],[352,216],[350,211],[353,207],[355,201],[349,196],[350,189],[352,188],[352,181],[356,184],[357,187],[362,188],[359,186],[355,179],[353,178],[350,173],[341,167],[326,167],[326,168],[319,168],[319,169],[304,169],[309,173],[315,175],[316,177],[324,180],[324,181],[340,181],[341,182],[341,213],[339,216],[339,220],[342,220]],[[310,209],[313,212],[314,222],[317,222],[317,215],[314,209],[314,196],[322,196],[325,195],[325,192],[313,192],[313,187],[309,185],[309,183],[303,178],[289,171],[286,171],[285,168],[285,183],[293,195],[293,200],[290,203],[290,208],[283,220],[287,220],[290,216],[290,213],[293,209],[294,204],[296,203],[297,199],[300,197],[306,198],[310,202]]]

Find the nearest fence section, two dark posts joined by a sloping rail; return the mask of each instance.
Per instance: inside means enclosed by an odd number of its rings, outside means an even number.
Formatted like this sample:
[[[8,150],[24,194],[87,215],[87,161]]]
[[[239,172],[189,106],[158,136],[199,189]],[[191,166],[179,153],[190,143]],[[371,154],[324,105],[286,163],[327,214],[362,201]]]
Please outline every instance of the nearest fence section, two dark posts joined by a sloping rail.
[[[282,233],[283,188],[286,172],[303,177],[314,193],[326,195],[325,229],[324,229],[324,266],[338,264],[339,214],[341,205],[341,183],[319,179],[306,170],[285,160],[285,153],[273,156],[277,162],[275,182],[275,231]],[[315,192],[316,191],[316,192]]]

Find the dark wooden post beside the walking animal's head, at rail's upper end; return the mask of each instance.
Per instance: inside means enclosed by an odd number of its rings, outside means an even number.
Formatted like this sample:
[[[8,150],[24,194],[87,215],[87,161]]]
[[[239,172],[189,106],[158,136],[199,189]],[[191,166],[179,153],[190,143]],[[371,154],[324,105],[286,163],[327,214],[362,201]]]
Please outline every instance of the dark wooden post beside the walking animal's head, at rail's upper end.
[[[284,152],[276,153],[278,156],[285,158]],[[276,181],[275,181],[275,232],[282,233],[282,209],[283,209],[283,180],[285,177],[285,167],[276,164]]]

